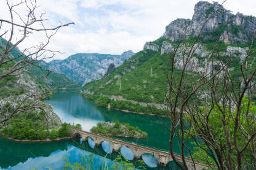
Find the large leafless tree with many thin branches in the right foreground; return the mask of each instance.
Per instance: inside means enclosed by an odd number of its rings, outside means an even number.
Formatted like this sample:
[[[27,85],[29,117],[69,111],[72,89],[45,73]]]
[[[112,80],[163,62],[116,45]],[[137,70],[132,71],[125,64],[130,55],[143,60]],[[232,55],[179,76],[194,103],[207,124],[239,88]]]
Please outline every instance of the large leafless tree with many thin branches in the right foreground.
[[[218,40],[207,60],[206,71],[193,63],[194,53],[201,47],[199,39],[204,25],[221,11],[222,6],[204,21],[193,43],[187,41],[185,26],[183,37],[169,55],[166,116],[171,126],[164,125],[170,131],[170,154],[181,169],[191,168],[185,160],[186,152],[193,160],[194,169],[198,161],[212,169],[256,168],[256,105],[253,102],[256,68],[252,67],[255,34],[246,57],[236,64],[239,67],[236,76],[231,74],[234,56],[223,60]],[[175,69],[177,61],[183,66],[180,71]],[[181,142],[182,163],[175,158],[175,137]],[[191,142],[196,147],[188,144]]]

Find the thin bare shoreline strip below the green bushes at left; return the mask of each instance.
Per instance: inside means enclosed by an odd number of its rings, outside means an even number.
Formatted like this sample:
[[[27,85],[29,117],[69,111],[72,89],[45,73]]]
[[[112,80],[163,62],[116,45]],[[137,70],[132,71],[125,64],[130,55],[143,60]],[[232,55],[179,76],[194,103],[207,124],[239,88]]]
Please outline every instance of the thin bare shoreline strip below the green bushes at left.
[[[56,141],[65,141],[65,140],[70,140],[73,139],[73,137],[58,137],[56,139],[43,139],[43,140],[28,140],[28,139],[14,139],[12,137],[7,137],[4,134],[0,133],[4,139],[7,139],[9,141],[14,141],[14,142],[25,142],[25,143],[40,143],[40,142],[56,142]]]

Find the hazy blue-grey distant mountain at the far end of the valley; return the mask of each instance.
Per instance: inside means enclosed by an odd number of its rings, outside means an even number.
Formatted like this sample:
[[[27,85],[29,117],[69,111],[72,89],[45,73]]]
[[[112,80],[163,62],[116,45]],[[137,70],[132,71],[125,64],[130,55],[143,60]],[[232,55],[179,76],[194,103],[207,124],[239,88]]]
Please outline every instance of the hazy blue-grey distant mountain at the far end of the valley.
[[[121,55],[78,53],[69,56],[65,60],[53,60],[44,64],[50,71],[65,74],[74,82],[83,85],[102,78],[111,63],[118,67],[132,55],[134,55],[132,50]]]

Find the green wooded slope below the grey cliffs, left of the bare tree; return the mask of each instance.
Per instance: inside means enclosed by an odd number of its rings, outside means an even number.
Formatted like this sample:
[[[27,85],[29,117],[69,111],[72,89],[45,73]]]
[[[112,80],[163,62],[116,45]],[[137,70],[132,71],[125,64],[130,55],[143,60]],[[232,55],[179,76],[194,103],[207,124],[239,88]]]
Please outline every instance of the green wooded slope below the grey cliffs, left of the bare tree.
[[[164,102],[168,58],[145,50],[132,56],[103,79],[87,83],[83,89],[105,95],[121,95],[144,102]],[[152,68],[152,74],[151,74]]]

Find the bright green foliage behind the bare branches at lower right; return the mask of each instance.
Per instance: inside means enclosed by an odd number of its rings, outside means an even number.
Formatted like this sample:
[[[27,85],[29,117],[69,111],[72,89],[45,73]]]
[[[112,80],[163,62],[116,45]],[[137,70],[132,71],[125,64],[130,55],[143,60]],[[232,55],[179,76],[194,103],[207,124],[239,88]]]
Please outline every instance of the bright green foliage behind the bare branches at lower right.
[[[252,128],[250,125],[254,125],[254,121],[255,121],[254,117],[255,117],[255,113],[256,113],[256,104],[255,104],[255,102],[252,102],[252,101],[250,102],[249,112],[247,115],[246,113],[247,113],[247,108],[248,108],[248,102],[249,102],[249,100],[247,98],[242,99],[241,117],[239,117],[241,126],[244,129],[244,133],[246,131],[247,132],[250,131],[250,128]],[[220,110],[218,109],[218,107],[215,104],[214,109],[212,109],[212,111],[210,112],[210,115],[208,117],[209,118],[208,125],[212,130],[212,136],[214,136],[214,140],[216,141],[216,144],[219,146],[223,146],[223,148],[224,148],[224,147],[226,147],[227,144],[226,144],[225,132],[223,131],[223,122],[222,121],[226,122],[225,128],[227,130],[230,130],[230,133],[233,134],[235,120],[233,118],[231,118],[230,123],[228,123],[228,118],[230,115],[232,117],[235,117],[236,112],[238,110],[234,109],[230,113],[229,108],[224,109],[223,106],[220,106],[220,107],[222,107],[222,110],[224,110],[225,112],[224,113],[220,112]],[[207,108],[205,106],[201,107],[202,114],[209,112],[209,110],[210,110],[210,108]],[[223,114],[226,115],[224,119],[223,119]],[[194,131],[194,129],[196,129],[196,128],[203,128],[199,119],[197,120],[196,125],[194,123],[192,124],[192,126],[191,126],[192,133],[196,133],[196,131]],[[231,139],[231,150],[236,150],[234,141],[233,141],[234,140],[233,137],[230,137],[230,139]],[[237,132],[236,139],[238,142],[238,147],[242,148],[244,146],[244,141],[243,141],[243,134],[241,134],[241,131]],[[199,139],[199,141],[201,141],[201,140]],[[193,150],[193,158],[195,158],[197,160],[204,160],[204,163],[207,163],[207,161],[210,163],[214,163],[213,158],[211,158],[209,155],[207,156],[206,152],[201,149],[201,147],[202,147],[203,149],[207,150],[206,144],[204,142],[202,142],[202,144],[200,144],[200,148],[198,147],[198,145],[196,145],[196,143],[194,143],[194,145],[195,145],[195,147]],[[223,149],[222,152],[224,152],[224,155],[227,154],[226,149]],[[244,160],[242,164],[244,165],[244,167],[247,167],[250,169],[250,166],[252,166],[252,162],[255,161],[253,159],[250,149],[248,149],[248,147],[247,147],[247,149],[245,150],[245,152],[243,154],[247,155],[247,156],[244,156],[244,158],[246,160]],[[231,156],[233,158],[235,158],[236,152],[232,152]],[[207,159],[207,161],[206,161],[206,159]],[[236,161],[236,159],[234,159],[234,161]],[[236,163],[234,163],[234,164],[236,164]]]

